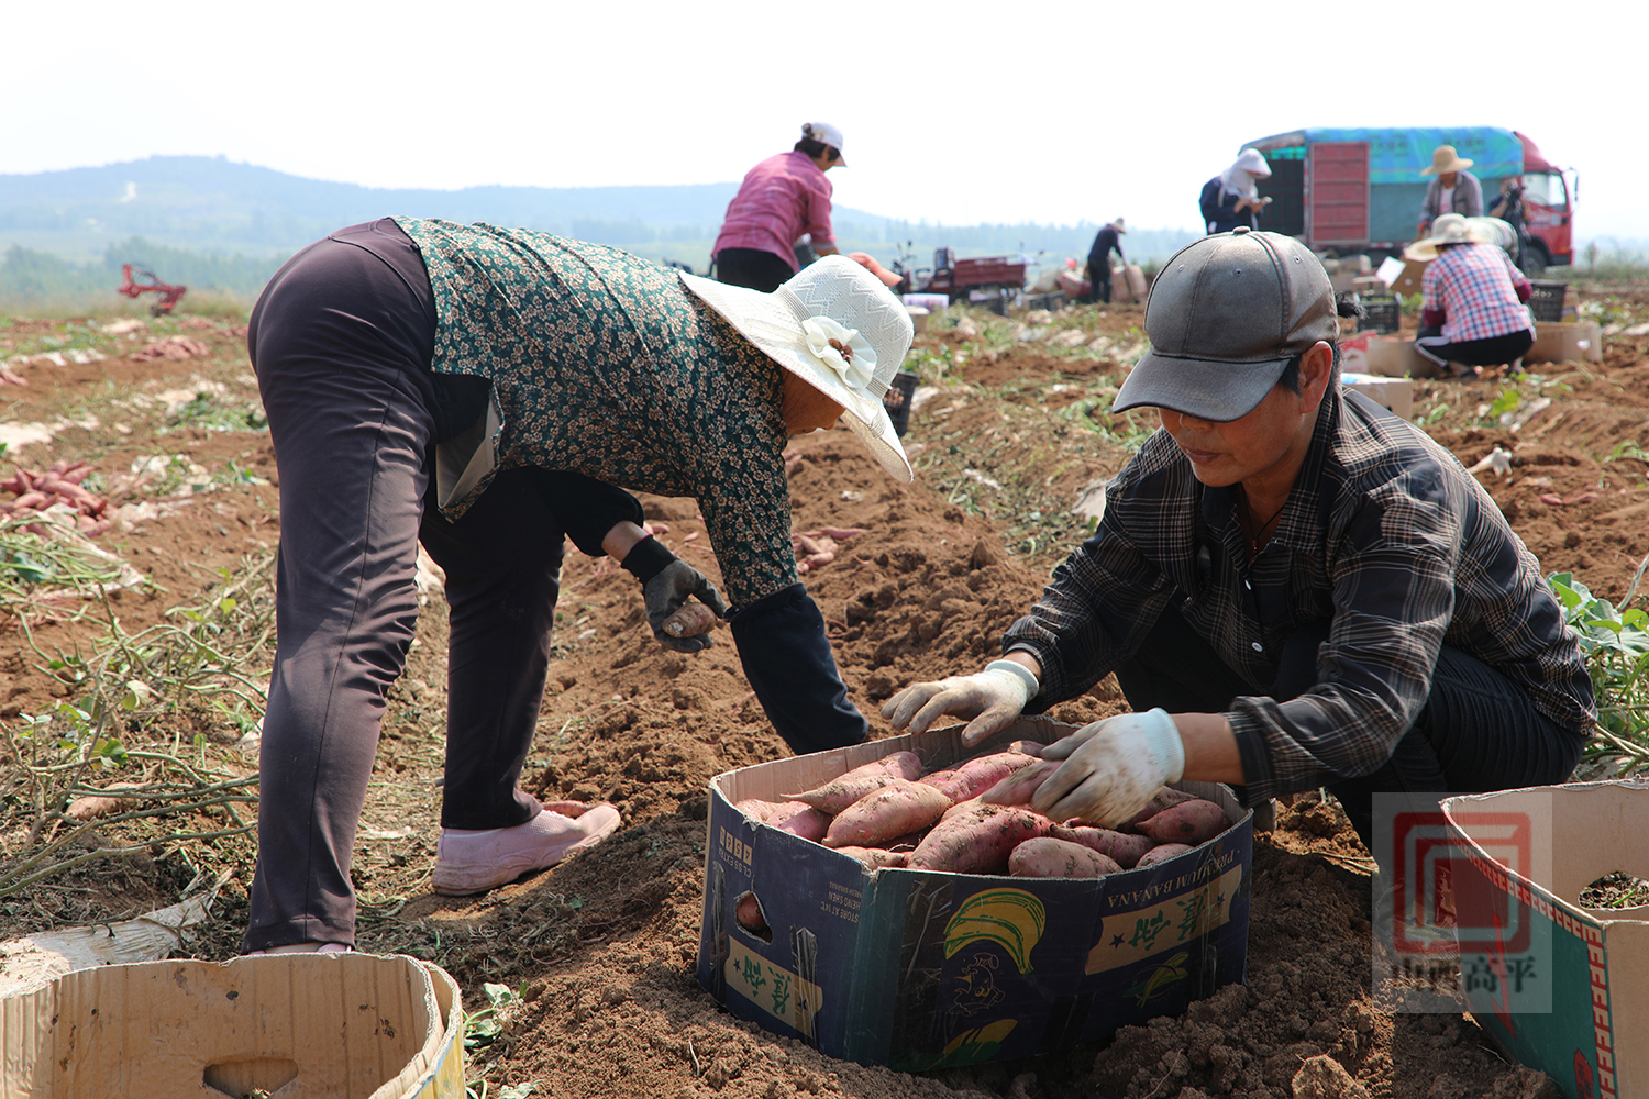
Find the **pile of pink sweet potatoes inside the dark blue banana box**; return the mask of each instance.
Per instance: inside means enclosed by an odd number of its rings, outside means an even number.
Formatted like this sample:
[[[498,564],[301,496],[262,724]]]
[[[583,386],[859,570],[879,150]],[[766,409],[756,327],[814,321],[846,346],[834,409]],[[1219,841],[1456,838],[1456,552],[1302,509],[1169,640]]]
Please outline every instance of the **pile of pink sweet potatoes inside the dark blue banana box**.
[[[894,751],[788,801],[740,801],[747,817],[834,847],[871,868],[907,867],[1022,878],[1098,878],[1149,867],[1230,825],[1212,801],[1163,788],[1118,829],[1050,821],[1029,807],[1057,766],[1036,741],[923,774],[914,751]]]

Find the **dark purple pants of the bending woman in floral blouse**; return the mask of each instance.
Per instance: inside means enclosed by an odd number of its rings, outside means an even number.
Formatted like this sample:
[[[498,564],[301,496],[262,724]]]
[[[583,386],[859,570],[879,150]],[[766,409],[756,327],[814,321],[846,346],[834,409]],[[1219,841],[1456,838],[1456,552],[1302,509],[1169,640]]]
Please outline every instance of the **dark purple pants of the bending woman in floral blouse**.
[[[442,825],[541,812],[516,781],[549,666],[562,529],[529,471],[498,475],[458,522],[435,511],[434,445],[473,422],[485,382],[430,374],[434,334],[424,262],[389,219],[298,252],[252,310],[280,555],[247,951],[355,942],[350,857],[384,692],[417,621],[420,539],[447,570],[452,610]]]

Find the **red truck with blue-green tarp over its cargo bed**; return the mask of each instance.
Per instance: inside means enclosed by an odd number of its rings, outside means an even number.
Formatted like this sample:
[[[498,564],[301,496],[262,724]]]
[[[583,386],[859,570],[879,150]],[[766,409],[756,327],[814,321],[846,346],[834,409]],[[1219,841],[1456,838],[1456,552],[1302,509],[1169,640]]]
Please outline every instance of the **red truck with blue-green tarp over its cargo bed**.
[[[1527,274],[1573,260],[1573,191],[1565,170],[1550,163],[1524,133],[1499,127],[1308,129],[1275,133],[1258,148],[1271,176],[1260,194],[1271,204],[1260,227],[1299,237],[1318,252],[1397,255],[1413,241],[1425,201],[1431,150],[1453,145],[1473,160],[1487,213],[1501,181],[1524,188]]]

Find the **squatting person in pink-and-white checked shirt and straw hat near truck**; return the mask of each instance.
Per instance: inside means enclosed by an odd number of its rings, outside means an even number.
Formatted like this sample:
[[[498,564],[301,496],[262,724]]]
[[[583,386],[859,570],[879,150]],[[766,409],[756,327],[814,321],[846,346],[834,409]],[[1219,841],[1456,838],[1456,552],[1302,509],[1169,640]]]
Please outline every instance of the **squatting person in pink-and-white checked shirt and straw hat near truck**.
[[[1443,214],[1431,236],[1403,249],[1403,259],[1430,260],[1420,277],[1420,333],[1415,351],[1445,374],[1482,374],[1514,366],[1535,343],[1525,308],[1534,287],[1517,270],[1504,241],[1487,232],[1494,217]]]

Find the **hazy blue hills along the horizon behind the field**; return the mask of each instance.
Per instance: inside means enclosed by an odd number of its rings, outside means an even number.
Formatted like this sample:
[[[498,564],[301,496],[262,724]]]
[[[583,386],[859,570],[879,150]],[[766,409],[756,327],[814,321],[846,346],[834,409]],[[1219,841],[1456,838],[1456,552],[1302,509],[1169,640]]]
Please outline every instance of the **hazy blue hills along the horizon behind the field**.
[[[688,186],[458,191],[364,188],[231,163],[221,157],[150,157],[101,168],[0,175],[0,305],[110,295],[124,262],[167,282],[252,298],[305,244],[384,214],[485,221],[623,247],[704,272],[737,183]],[[958,255],[1027,252],[1037,264],[1083,257],[1097,226],[942,226],[836,208],[843,250],[890,262],[907,249],[928,265],[937,247]],[[1135,259],[1164,259],[1191,239],[1135,231]]]

